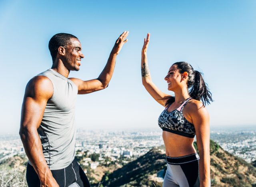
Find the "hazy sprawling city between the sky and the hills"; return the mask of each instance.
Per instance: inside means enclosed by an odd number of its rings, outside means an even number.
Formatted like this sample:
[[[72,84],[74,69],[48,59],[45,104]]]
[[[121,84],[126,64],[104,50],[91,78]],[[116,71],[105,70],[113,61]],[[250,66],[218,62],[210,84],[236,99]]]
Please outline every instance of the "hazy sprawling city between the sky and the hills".
[[[212,129],[210,138],[219,143],[224,150],[251,163],[256,157],[255,133],[255,128]],[[138,157],[147,153],[152,147],[159,146],[164,146],[162,132],[159,129],[129,131],[78,129],[76,134],[76,151],[88,151],[88,154],[101,153],[105,157],[120,156],[124,153],[122,151],[131,151],[133,156]],[[0,162],[16,154],[25,154],[18,135],[1,136]]]

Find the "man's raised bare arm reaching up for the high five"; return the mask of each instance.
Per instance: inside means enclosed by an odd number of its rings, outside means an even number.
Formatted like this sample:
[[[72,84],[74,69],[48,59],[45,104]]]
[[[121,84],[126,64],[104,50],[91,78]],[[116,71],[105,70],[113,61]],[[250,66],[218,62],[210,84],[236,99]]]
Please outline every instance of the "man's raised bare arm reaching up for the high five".
[[[112,78],[116,65],[116,56],[122,49],[123,45],[128,41],[128,39],[126,39],[127,36],[128,31],[125,31],[116,40],[116,43],[114,44],[108,58],[108,62],[97,79],[83,81],[77,78],[70,78],[70,80],[72,80],[78,86],[78,94],[89,94],[108,87],[108,83]]]

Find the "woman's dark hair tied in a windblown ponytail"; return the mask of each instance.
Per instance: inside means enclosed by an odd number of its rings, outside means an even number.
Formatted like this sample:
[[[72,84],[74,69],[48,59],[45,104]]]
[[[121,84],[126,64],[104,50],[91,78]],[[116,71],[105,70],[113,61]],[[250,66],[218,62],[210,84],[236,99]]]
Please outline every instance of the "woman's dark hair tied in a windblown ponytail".
[[[173,65],[177,66],[180,74],[188,72],[188,90],[189,95],[193,99],[202,101],[204,105],[210,104],[212,100],[212,94],[209,91],[207,84],[204,82],[202,74],[192,68],[187,62],[176,62]],[[166,105],[169,105],[175,101],[175,97],[170,97],[166,101]]]

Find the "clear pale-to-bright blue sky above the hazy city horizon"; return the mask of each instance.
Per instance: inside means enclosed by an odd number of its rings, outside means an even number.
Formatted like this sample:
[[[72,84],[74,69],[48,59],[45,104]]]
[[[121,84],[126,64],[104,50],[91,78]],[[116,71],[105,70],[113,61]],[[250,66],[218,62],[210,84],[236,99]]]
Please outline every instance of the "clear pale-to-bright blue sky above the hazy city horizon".
[[[70,77],[97,78],[116,38],[118,55],[109,87],[78,95],[76,125],[87,129],[157,128],[163,110],[141,84],[140,51],[150,32],[148,61],[163,92],[168,68],[179,61],[204,73],[214,102],[211,126],[255,125],[256,1],[0,1],[3,132],[18,132],[26,83],[51,67],[48,41],[77,36],[85,58]]]

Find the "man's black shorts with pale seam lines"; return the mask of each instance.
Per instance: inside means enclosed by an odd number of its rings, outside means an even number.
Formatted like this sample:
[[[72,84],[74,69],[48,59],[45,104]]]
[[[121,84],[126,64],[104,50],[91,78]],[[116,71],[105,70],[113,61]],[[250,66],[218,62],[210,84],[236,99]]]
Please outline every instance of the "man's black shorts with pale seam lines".
[[[75,159],[68,167],[51,170],[51,172],[60,187],[90,187],[84,171]],[[27,165],[26,179],[29,187],[40,187],[39,177],[34,167],[29,163]]]

